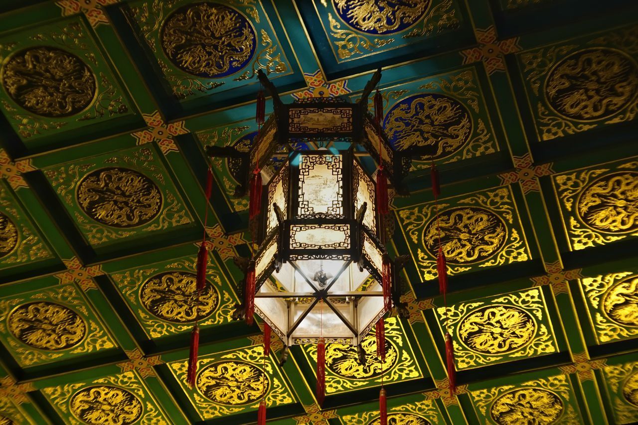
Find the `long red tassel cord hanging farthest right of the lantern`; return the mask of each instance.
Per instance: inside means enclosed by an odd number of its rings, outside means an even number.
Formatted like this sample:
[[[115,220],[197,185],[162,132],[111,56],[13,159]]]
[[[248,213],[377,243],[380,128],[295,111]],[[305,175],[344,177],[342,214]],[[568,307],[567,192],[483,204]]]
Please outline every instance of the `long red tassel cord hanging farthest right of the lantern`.
[[[445,253],[443,253],[443,248],[441,247],[441,227],[438,213],[438,197],[441,195],[441,183],[438,170],[436,166],[434,166],[434,161],[432,161],[430,176],[432,179],[432,194],[434,195],[434,204],[436,206],[436,229],[439,244],[438,255],[436,257],[436,272],[438,274],[439,292],[443,295],[443,304],[445,306],[445,365],[447,367],[450,396],[454,396],[456,392],[456,368],[454,367],[454,343],[452,342],[452,335],[450,335],[447,327],[447,262],[445,260]]]

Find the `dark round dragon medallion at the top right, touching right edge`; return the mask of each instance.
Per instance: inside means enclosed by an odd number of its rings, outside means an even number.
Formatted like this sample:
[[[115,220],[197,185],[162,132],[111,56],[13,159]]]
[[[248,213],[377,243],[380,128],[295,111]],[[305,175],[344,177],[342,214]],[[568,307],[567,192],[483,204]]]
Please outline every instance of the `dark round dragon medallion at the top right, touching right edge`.
[[[545,95],[560,115],[581,121],[611,117],[638,93],[638,67],[627,54],[588,48],[561,60],[547,76]]]

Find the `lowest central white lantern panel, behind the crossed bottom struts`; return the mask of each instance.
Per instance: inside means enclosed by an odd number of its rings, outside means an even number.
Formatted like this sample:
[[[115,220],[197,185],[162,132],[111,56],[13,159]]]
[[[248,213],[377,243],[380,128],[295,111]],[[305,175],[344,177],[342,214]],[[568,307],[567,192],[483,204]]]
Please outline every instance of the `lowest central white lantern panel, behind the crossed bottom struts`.
[[[293,322],[299,318],[308,304],[295,303],[293,306]],[[336,304],[339,312],[352,323],[352,306],[350,303]],[[295,343],[303,343],[307,338],[343,338],[350,342],[353,338],[352,331],[343,323],[343,320],[332,311],[325,303],[318,302],[315,307],[304,317],[297,329],[292,334]],[[301,339],[301,341],[299,341]],[[310,341],[308,341],[310,342]]]

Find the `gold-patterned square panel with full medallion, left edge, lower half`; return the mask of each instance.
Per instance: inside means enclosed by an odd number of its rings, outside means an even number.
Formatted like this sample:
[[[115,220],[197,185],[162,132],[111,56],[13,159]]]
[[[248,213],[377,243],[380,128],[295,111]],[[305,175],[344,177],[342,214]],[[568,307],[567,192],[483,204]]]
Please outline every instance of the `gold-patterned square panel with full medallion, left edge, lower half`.
[[[75,285],[0,299],[0,341],[23,367],[115,348]]]

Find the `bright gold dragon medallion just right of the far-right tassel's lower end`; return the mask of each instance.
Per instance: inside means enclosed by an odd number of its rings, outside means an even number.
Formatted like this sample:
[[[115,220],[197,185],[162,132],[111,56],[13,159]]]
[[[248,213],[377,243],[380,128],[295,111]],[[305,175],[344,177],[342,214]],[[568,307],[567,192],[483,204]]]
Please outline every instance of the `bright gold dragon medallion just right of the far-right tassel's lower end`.
[[[459,323],[459,339],[482,354],[505,354],[530,343],[536,323],[527,311],[491,305],[470,311]]]

